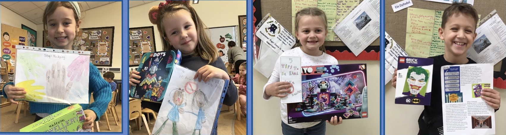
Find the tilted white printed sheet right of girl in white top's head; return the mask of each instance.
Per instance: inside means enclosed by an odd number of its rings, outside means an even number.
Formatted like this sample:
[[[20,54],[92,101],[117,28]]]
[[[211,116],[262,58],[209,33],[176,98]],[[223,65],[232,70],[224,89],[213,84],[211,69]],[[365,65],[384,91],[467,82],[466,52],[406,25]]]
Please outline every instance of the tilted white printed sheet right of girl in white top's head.
[[[379,37],[379,0],[365,0],[333,32],[358,56]]]

